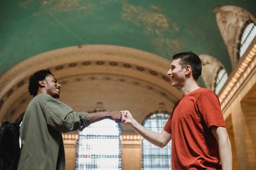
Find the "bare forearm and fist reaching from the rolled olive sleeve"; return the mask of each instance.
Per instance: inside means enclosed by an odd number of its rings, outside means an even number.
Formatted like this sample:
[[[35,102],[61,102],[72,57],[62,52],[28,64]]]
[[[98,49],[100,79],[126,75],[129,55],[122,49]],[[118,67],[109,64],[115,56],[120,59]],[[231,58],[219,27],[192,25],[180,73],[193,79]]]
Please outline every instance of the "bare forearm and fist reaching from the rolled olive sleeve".
[[[121,120],[121,113],[120,111],[103,111],[103,112],[95,112],[89,113],[91,123],[98,122],[99,120],[110,118],[115,120],[116,122],[120,122]]]

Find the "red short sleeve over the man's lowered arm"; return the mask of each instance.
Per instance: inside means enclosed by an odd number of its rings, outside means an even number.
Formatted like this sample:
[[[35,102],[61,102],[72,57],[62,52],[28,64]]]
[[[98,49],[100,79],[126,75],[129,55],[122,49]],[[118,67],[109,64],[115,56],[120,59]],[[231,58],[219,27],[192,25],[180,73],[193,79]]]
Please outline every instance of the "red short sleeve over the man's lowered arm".
[[[214,92],[205,93],[199,101],[198,107],[208,129],[211,126],[225,127],[219,98]]]

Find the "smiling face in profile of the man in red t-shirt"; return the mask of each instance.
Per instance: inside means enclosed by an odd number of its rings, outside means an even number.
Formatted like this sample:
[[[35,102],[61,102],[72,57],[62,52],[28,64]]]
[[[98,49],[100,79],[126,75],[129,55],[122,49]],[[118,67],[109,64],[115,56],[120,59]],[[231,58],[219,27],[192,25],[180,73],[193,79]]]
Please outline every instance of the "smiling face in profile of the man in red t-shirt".
[[[167,75],[170,77],[172,86],[174,87],[183,87],[185,81],[185,68],[182,68],[180,65],[180,59],[173,60],[170,65],[170,69],[167,72]]]

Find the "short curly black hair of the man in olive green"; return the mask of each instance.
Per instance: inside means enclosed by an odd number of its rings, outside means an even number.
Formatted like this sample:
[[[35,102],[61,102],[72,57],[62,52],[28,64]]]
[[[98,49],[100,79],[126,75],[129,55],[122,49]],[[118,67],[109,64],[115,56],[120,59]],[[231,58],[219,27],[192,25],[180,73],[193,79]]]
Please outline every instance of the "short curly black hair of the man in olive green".
[[[29,93],[30,95],[36,96],[38,88],[39,88],[39,81],[45,80],[47,75],[53,75],[49,69],[42,69],[36,71],[33,76],[29,79]]]

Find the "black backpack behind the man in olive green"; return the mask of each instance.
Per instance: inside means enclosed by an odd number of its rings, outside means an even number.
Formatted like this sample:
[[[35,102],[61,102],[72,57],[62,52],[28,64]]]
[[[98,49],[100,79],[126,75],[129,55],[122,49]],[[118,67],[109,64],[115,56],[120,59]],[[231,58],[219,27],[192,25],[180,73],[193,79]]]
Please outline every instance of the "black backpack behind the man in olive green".
[[[0,127],[0,170],[17,169],[19,156],[19,123],[4,122]]]

